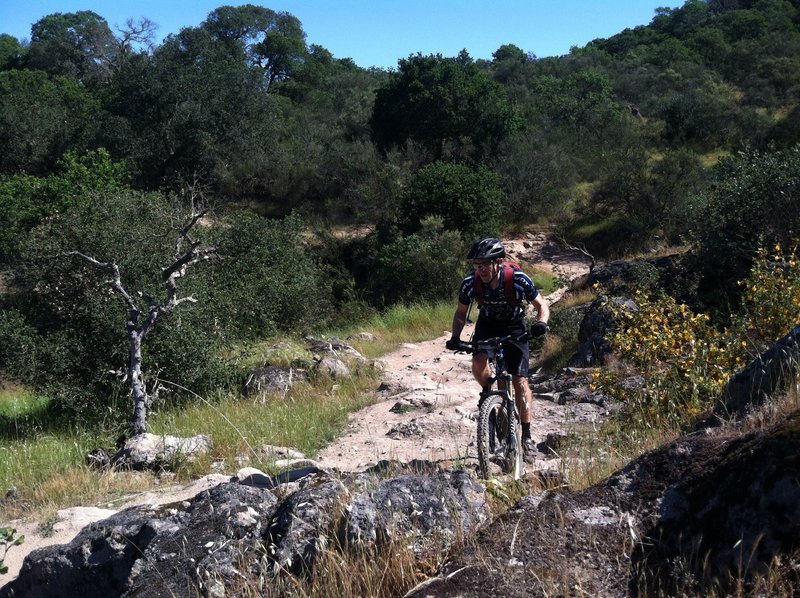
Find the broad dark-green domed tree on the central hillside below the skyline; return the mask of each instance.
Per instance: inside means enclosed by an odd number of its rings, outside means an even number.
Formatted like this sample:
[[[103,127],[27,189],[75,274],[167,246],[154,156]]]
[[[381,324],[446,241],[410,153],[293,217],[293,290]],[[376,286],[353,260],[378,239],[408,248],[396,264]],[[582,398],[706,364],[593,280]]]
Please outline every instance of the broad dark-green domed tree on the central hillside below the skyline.
[[[419,142],[431,161],[480,160],[520,124],[500,84],[466,52],[400,60],[378,89],[371,119],[382,151]]]

